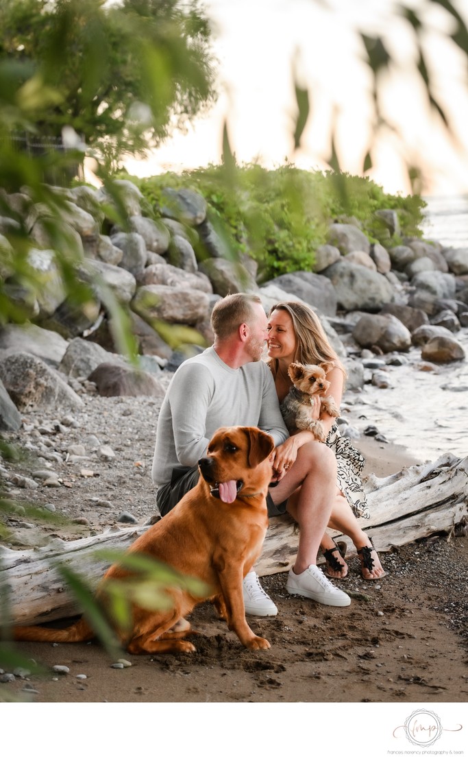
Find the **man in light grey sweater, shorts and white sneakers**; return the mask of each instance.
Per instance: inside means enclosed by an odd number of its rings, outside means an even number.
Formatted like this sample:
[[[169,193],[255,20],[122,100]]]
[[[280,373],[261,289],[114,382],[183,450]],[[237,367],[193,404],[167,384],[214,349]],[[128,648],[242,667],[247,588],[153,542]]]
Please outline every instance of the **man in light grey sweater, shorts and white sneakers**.
[[[222,298],[212,310],[215,341],[202,354],[177,369],[159,414],[152,480],[159,486],[157,503],[164,517],[197,482],[197,461],[218,427],[259,427],[272,435],[275,446],[288,437],[279,410],[272,373],[261,361],[267,319],[254,294]],[[275,469],[275,462],[273,464]],[[287,581],[291,594],[319,603],[347,606],[339,591],[316,567],[320,540],[330,518],[336,490],[335,455],[313,442],[302,446],[287,471],[276,472],[278,484],[269,492],[269,516],[288,505],[300,525],[299,549]],[[255,572],[243,581],[247,614],[275,616],[278,609]]]

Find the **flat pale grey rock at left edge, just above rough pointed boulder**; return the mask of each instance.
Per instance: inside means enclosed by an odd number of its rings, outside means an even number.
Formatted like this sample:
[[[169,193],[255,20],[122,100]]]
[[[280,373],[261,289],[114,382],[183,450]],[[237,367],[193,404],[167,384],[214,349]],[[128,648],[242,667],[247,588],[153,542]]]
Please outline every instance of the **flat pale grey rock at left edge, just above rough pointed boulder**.
[[[6,324],[0,326],[0,357],[11,353],[32,353],[33,355],[58,367],[68,342],[49,329],[35,324]]]

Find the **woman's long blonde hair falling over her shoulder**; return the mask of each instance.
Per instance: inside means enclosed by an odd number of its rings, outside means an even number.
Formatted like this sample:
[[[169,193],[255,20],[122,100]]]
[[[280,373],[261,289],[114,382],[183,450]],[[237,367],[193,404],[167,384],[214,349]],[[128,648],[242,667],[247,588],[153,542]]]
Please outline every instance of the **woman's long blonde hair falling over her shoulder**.
[[[341,364],[336,351],[331,347],[319,317],[309,306],[297,301],[284,301],[270,308],[269,317],[276,310],[286,311],[293,321],[294,333],[297,339],[294,361],[299,361],[300,364],[323,364],[324,361],[332,361],[335,367],[341,369],[344,376],[346,376],[346,370],[343,364]],[[268,364],[273,376],[276,376],[278,359],[270,359]]]

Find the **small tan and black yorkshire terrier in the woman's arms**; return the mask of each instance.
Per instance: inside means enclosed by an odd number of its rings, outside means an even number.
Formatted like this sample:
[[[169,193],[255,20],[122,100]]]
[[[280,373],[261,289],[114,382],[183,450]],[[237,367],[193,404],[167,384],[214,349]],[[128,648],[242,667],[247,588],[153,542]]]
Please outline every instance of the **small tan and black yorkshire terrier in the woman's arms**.
[[[281,414],[284,417],[290,435],[297,430],[310,430],[320,442],[325,442],[326,435],[321,421],[313,419],[311,402],[316,395],[322,396],[330,387],[325,375],[334,364],[325,362],[315,364],[290,364],[287,374],[293,383],[286,398],[281,403]],[[320,410],[324,409],[331,417],[338,417],[340,411],[331,395],[320,398]]]

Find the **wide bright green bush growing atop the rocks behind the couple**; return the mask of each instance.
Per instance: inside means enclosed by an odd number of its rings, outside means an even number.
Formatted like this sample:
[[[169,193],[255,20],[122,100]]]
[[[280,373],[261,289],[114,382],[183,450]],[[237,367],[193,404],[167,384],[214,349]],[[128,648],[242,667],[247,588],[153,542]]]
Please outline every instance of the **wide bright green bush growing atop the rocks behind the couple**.
[[[388,231],[375,211],[395,209],[402,237],[422,234],[422,198],[389,195],[372,180],[348,174],[306,172],[291,165],[268,171],[248,164],[236,167],[232,175],[222,165],[209,165],[181,175],[131,179],[155,216],[161,215],[165,187],[201,194],[232,254],[249,254],[258,263],[259,282],[286,272],[313,271],[316,249],[327,242],[328,225],[335,219],[353,216],[372,242],[388,245]]]

